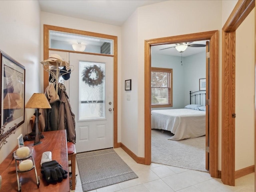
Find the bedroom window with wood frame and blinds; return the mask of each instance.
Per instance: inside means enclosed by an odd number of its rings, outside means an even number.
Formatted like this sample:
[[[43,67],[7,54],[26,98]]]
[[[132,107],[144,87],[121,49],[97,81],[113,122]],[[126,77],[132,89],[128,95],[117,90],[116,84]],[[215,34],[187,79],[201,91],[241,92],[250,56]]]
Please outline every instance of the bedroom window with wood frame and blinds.
[[[151,107],[172,107],[172,69],[151,68]]]

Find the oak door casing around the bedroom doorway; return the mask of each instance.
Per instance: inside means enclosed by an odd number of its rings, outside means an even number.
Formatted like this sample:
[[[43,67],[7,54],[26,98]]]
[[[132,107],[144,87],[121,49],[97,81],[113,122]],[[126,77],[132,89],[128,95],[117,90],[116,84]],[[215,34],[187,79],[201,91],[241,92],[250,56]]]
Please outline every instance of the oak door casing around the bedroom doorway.
[[[151,163],[151,46],[159,44],[175,44],[180,42],[210,40],[210,168],[209,172],[212,177],[218,177],[218,30],[179,35],[172,37],[156,38],[145,40],[145,164]]]

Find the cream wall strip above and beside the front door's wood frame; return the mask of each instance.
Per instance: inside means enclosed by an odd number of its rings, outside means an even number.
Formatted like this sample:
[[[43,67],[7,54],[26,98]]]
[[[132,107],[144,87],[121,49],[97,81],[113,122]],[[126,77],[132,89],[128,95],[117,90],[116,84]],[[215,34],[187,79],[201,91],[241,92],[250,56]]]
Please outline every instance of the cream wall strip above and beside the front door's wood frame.
[[[118,37],[118,142],[121,142],[121,28],[98,22],[82,20],[62,15],[41,12],[41,32],[43,33],[43,25],[59,26],[101,34],[108,34]],[[41,39],[43,48],[43,36]],[[43,49],[42,49],[43,50]],[[43,52],[41,60],[43,59]],[[43,83],[43,82],[42,82]],[[43,90],[42,90],[43,92]]]

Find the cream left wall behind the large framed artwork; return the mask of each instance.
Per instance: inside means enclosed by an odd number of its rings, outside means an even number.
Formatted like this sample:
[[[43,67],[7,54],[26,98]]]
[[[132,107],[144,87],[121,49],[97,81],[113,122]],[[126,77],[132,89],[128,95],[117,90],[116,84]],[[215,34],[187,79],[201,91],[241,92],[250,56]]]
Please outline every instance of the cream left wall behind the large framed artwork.
[[[40,7],[38,1],[0,1],[0,49],[25,66],[25,103],[40,91]],[[17,137],[31,132],[33,109],[25,109],[25,123],[0,150],[0,163],[17,147]],[[7,127],[8,128],[8,127]]]

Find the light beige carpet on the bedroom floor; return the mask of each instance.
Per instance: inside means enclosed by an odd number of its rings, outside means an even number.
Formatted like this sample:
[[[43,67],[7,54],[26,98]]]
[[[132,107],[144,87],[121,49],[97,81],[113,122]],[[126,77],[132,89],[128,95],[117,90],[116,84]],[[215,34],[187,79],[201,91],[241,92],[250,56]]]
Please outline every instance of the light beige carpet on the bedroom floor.
[[[205,169],[205,136],[184,140],[168,140],[168,131],[151,130],[151,161],[154,163],[199,170]]]

